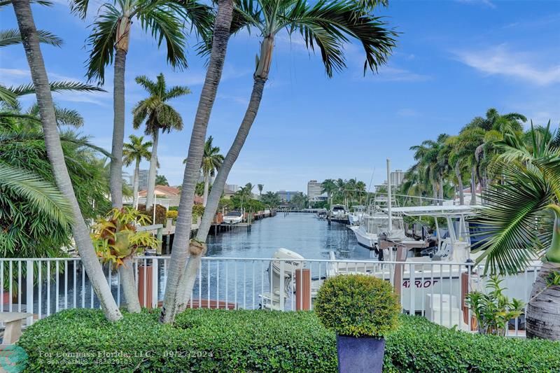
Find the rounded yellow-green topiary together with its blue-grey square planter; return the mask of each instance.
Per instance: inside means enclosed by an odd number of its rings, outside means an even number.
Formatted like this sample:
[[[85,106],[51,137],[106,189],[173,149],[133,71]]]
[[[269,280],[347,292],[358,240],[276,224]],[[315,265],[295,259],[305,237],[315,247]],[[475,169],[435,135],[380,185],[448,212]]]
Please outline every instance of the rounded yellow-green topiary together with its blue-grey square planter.
[[[337,333],[338,371],[381,372],[384,335],[398,327],[400,303],[388,281],[365,274],[325,280],[314,310]]]

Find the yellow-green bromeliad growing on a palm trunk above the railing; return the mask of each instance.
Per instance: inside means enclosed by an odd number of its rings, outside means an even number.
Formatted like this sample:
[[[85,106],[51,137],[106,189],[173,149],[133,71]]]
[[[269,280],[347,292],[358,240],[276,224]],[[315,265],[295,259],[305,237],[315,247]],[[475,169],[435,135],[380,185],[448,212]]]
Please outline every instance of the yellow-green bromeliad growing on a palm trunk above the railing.
[[[112,209],[94,225],[92,241],[97,255],[104,262],[113,262],[119,267],[139,249],[158,246],[158,239],[150,232],[137,232],[137,225],[150,222],[148,216],[136,209]]]

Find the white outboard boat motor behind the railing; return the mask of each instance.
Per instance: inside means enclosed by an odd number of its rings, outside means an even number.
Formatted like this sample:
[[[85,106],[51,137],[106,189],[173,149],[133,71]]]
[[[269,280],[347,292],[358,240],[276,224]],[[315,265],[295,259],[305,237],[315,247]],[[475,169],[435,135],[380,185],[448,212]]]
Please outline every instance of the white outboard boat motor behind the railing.
[[[267,277],[270,285],[271,291],[269,293],[264,293],[260,295],[262,309],[274,309],[283,310],[284,303],[293,294],[294,289],[292,288],[293,276],[295,276],[295,270],[303,268],[303,260],[305,258],[302,255],[290,251],[287,248],[279,248],[274,255],[274,259],[281,260],[271,260],[269,267],[267,269]],[[283,264],[281,264],[281,262]],[[281,273],[281,267],[283,273]],[[281,302],[281,281],[283,281],[283,302]]]

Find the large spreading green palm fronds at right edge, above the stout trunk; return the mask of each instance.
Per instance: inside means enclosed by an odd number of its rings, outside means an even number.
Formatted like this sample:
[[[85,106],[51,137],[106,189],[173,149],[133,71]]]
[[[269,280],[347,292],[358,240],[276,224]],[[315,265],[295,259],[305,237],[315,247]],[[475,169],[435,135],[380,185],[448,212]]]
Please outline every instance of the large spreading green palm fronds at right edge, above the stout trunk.
[[[552,216],[548,206],[560,202],[560,150],[549,136],[531,129],[531,143],[509,131],[496,145],[503,183],[491,185],[483,194],[487,206],[475,221],[481,226],[484,250],[491,272],[515,273],[535,256],[542,256],[552,239]]]

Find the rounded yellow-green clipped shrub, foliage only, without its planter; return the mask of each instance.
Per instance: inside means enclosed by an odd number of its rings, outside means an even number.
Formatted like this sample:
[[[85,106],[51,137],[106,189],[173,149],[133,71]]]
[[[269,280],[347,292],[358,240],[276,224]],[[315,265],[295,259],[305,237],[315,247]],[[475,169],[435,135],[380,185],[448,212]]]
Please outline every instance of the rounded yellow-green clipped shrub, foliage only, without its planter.
[[[346,274],[323,283],[314,310],[338,335],[383,337],[398,327],[400,303],[388,281]]]

